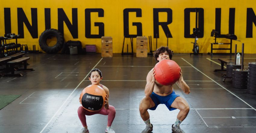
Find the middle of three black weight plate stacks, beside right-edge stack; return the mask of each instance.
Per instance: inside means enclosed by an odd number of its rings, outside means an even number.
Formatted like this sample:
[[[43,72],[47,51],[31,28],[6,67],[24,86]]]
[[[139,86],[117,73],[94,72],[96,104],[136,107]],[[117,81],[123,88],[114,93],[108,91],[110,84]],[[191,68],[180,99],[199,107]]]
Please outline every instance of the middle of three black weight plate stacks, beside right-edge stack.
[[[233,69],[233,78],[232,78],[233,87],[239,88],[239,89],[246,89],[247,76],[248,76],[248,70]]]

